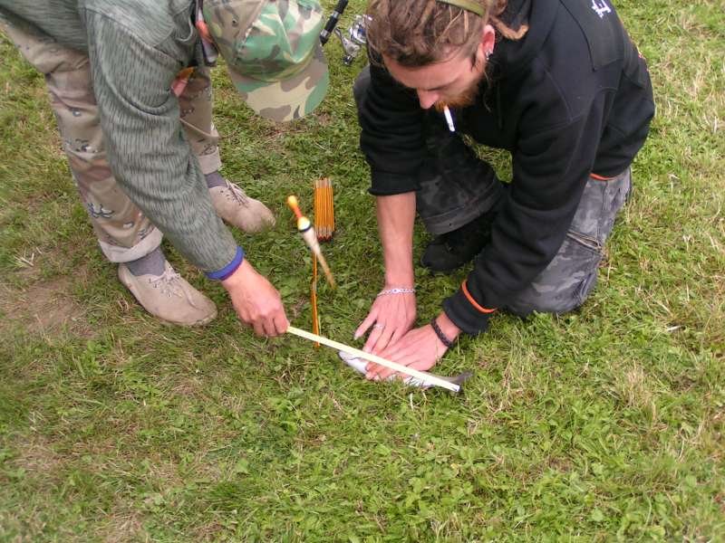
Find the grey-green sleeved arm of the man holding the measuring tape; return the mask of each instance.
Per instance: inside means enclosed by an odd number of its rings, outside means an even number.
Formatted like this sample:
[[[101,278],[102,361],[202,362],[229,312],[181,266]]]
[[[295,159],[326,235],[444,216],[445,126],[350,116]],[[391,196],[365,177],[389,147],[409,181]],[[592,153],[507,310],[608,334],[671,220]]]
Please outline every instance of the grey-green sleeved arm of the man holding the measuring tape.
[[[169,91],[178,59],[125,28],[87,14],[89,57],[103,137],[124,193],[189,261],[227,266],[237,243],[214,211]],[[109,45],[112,43],[112,46]]]

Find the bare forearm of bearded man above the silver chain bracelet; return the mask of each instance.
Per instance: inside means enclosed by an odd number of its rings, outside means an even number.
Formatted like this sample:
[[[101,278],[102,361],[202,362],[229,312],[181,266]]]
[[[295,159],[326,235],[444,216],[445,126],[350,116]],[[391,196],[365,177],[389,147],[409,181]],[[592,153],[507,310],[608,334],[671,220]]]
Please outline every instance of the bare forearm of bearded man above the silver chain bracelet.
[[[385,284],[412,286],[415,282],[412,258],[415,193],[378,196],[377,209],[385,262]]]

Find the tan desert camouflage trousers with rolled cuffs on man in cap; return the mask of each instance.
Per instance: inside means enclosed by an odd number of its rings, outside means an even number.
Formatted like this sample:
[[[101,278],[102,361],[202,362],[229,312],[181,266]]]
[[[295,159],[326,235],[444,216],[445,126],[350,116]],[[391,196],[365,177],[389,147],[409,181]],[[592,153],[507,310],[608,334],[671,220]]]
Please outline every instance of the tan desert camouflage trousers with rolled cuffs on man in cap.
[[[88,56],[36,29],[0,19],[0,30],[45,77],[63,151],[103,254],[111,262],[131,262],[154,251],[161,243],[160,230],[124,194],[109,167]],[[221,167],[221,160],[208,69],[197,67],[184,75],[177,92],[181,124],[201,171],[209,174]]]

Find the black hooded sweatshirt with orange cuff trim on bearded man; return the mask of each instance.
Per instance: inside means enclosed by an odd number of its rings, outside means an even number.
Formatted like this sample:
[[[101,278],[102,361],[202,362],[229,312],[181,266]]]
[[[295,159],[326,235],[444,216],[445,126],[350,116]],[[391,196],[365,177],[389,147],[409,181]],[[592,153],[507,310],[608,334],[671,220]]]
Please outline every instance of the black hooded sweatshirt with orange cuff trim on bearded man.
[[[564,243],[591,175],[630,165],[654,115],[642,56],[609,0],[509,0],[509,21],[527,20],[518,41],[499,40],[476,102],[454,111],[457,129],[510,151],[513,179],[491,242],[463,287],[443,302],[459,329],[477,334],[546,268]],[[417,189],[423,116],[414,90],[375,62],[359,110],[372,195]],[[440,118],[440,122],[445,120]]]

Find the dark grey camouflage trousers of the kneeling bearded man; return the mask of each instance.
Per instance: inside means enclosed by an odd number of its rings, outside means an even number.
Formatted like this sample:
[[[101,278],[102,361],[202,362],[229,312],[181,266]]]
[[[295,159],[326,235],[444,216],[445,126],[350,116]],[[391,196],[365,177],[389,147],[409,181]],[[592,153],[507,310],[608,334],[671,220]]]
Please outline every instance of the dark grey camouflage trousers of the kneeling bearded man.
[[[366,68],[353,89],[358,105],[365,100],[369,84]],[[458,134],[450,133],[440,115],[426,116],[425,131],[427,157],[417,180],[416,211],[426,230],[436,235],[449,233],[481,214],[495,212],[507,188],[493,168]],[[579,307],[594,289],[604,244],[631,186],[630,168],[607,180],[589,177],[556,256],[501,309],[524,316],[532,311],[565,313]],[[485,254],[484,247],[478,258]]]

